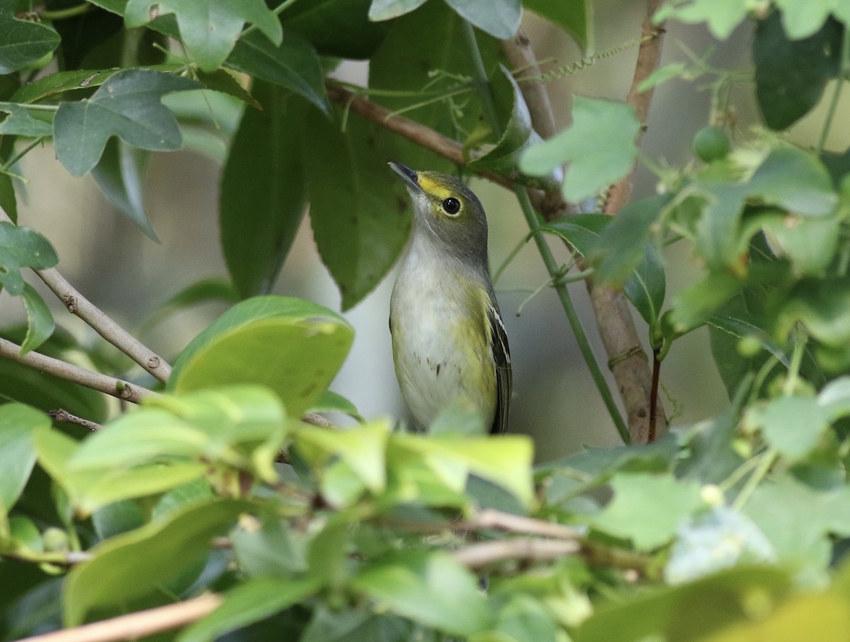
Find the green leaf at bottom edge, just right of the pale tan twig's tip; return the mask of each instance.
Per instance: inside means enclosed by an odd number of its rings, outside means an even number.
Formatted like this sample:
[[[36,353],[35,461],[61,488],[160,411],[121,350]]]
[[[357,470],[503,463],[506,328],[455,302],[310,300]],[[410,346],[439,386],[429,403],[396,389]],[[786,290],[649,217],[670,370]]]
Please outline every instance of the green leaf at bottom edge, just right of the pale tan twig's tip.
[[[255,577],[241,582],[225,596],[215,611],[177,637],[178,642],[212,642],[237,628],[258,622],[315,593],[318,583],[313,577],[283,579]]]

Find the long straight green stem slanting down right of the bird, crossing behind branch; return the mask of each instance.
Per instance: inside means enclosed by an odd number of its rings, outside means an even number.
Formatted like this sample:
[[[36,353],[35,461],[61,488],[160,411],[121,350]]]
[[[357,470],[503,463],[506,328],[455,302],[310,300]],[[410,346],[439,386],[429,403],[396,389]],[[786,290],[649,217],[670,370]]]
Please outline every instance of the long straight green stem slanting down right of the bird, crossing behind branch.
[[[484,70],[484,61],[481,60],[481,51],[479,50],[478,41],[475,39],[473,26],[467,20],[464,20],[463,34],[467,43],[467,51],[473,62],[473,85],[478,90],[481,98],[481,103],[484,107],[484,117],[487,119],[494,132],[500,132],[501,122],[499,122],[496,105],[493,102],[493,95],[490,93],[490,85],[487,81],[487,72]],[[629,432],[626,428],[626,423],[623,421],[620,410],[617,408],[614,396],[611,394],[611,389],[609,388],[608,382],[605,380],[602,369],[596,361],[596,355],[593,354],[590,342],[587,340],[587,333],[581,325],[581,319],[575,310],[572,298],[570,298],[570,292],[567,290],[564,283],[560,282],[560,278],[563,275],[561,274],[558,262],[555,260],[552,249],[548,246],[543,235],[536,233],[540,227],[541,221],[537,216],[534,207],[532,207],[529,195],[524,187],[521,185],[514,185],[513,193],[517,197],[519,207],[522,209],[525,222],[528,224],[529,230],[534,233],[533,236],[537,245],[537,251],[540,253],[541,259],[543,259],[543,264],[546,266],[546,270],[553,280],[553,287],[555,288],[555,292],[558,293],[561,306],[564,308],[564,314],[567,315],[567,320],[570,322],[570,327],[575,334],[575,340],[581,350],[581,356],[584,357],[584,360],[587,362],[587,368],[590,370],[593,382],[596,383],[599,390],[599,395],[602,396],[605,407],[608,409],[611,419],[614,421],[617,432],[620,433],[623,441],[627,444],[629,443]]]

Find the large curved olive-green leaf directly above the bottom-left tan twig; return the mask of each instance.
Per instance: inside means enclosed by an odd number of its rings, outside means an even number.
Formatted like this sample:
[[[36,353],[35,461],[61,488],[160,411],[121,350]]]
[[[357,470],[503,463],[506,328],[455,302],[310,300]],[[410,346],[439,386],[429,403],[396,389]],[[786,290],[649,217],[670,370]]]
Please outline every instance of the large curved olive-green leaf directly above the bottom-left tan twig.
[[[233,526],[250,503],[213,499],[99,543],[93,559],[65,580],[65,626],[84,622],[90,611],[144,597],[209,554],[212,537]]]

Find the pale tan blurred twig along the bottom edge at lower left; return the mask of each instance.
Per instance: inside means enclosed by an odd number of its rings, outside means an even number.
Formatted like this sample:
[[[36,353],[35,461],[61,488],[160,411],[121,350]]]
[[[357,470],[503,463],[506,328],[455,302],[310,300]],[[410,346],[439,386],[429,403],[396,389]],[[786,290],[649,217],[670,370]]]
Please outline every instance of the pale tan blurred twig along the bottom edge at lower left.
[[[218,594],[206,594],[177,604],[83,624],[82,627],[36,635],[20,642],[114,642],[139,639],[200,620],[215,611],[221,603],[222,598]]]

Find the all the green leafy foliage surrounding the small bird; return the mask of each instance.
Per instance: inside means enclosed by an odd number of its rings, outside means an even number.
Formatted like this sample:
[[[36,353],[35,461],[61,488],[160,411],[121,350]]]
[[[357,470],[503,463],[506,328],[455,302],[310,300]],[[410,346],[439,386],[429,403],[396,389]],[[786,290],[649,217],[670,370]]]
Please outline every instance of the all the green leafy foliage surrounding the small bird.
[[[590,0],[526,4],[592,46]],[[659,22],[705,24],[720,39],[754,29],[752,70],[695,55],[643,83],[699,79],[711,94],[694,158],[661,167],[634,144],[641,123],[625,103],[576,97],[574,124],[540,141],[523,71],[507,70],[498,42],[522,9],[0,0],[0,207],[15,218],[16,163],[53,139],[69,172],[92,173],[155,237],[141,194],[148,152],[190,145],[224,164],[229,275],[184,284],[151,319],[230,305],[139,409],[117,413],[98,393],[0,361],[0,576],[15,578],[0,582],[0,639],[205,592],[223,604],[158,639],[850,639],[850,152],[823,142],[850,72],[850,14],[827,2],[664,3]],[[487,94],[473,56],[501,131],[481,124]],[[470,168],[557,181],[574,201],[599,196],[636,159],[655,172],[659,193],[617,216],[586,212],[534,233],[584,257],[576,278],[623,288],[662,364],[677,338],[709,327],[725,412],[649,446],[535,469],[528,437],[486,436],[463,407],[414,435],[360,418],[328,390],[351,327],[309,301],[266,296],[307,204],[350,308],[386,276],[410,229],[385,162],[451,169],[331,105],[326,82],[339,81],[327,73],[339,58],[370,60],[370,86],[352,91],[455,139]],[[756,96],[763,127],[736,130],[736,85]],[[824,95],[819,143],[791,144],[785,129]],[[0,283],[27,310],[26,327],[4,336],[126,373],[102,346],[54,332],[22,276],[57,263],[48,241],[6,222],[0,232]],[[702,274],[667,300],[675,243]],[[44,411],[56,407],[103,429],[53,423]],[[303,422],[317,410],[359,424]]]

